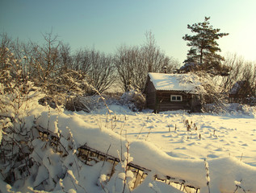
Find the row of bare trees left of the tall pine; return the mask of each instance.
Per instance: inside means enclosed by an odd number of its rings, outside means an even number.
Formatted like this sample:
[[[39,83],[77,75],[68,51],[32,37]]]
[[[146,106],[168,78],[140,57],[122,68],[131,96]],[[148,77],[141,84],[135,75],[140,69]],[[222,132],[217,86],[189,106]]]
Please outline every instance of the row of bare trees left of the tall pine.
[[[28,77],[38,86],[46,83],[56,86],[62,76],[72,71],[78,72],[78,76],[86,76],[89,84],[99,92],[104,92],[114,82],[118,82],[124,91],[128,91],[129,85],[142,90],[148,72],[161,72],[164,66],[171,72],[179,66],[177,60],[166,56],[157,46],[152,32],[145,34],[143,45],[122,45],[112,55],[94,48],[71,51],[68,43],[57,38],[51,32],[43,35],[42,44],[31,41],[21,43],[19,39],[13,40],[2,34],[0,68],[6,68],[10,51],[21,64],[23,77]]]

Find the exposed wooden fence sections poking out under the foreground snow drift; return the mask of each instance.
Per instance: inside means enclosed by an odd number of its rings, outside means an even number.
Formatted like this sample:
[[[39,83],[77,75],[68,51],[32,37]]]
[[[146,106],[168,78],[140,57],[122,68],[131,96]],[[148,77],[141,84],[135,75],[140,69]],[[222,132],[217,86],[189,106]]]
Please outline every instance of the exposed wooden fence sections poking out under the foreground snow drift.
[[[62,155],[68,154],[67,150],[65,150],[65,148],[61,146],[60,138],[58,137],[57,133],[53,133],[52,131],[44,129],[41,126],[36,126],[36,129],[38,129],[40,133],[40,139],[42,141],[50,141],[51,146],[57,152],[61,153]],[[80,158],[80,160],[84,162],[87,166],[93,166],[94,163],[101,161],[110,162],[112,164],[111,174],[109,174],[110,178],[115,173],[115,166],[120,162],[120,158],[115,158],[110,154],[103,153],[86,145],[78,147],[78,158]],[[134,176],[136,176],[132,189],[138,187],[151,171],[143,166],[138,166],[132,162],[128,163],[128,170],[131,170]],[[188,184],[183,179],[173,178],[170,175],[154,175],[154,180],[161,181],[184,192],[199,192],[199,187]]]

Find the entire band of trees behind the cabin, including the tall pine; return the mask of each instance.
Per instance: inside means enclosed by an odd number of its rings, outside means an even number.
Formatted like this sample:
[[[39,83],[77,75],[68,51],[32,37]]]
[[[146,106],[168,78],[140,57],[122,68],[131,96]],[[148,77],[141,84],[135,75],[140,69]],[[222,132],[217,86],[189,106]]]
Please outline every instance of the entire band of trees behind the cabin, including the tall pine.
[[[202,23],[187,25],[191,34],[184,35],[183,39],[191,48],[183,65],[157,46],[151,31],[145,33],[142,45],[122,45],[111,55],[94,48],[72,51],[68,43],[59,41],[52,32],[42,35],[44,43],[41,44],[22,43],[3,33],[1,76],[6,75],[8,69],[17,70],[19,66],[23,80],[32,81],[49,94],[62,91],[68,94],[102,93],[114,83],[124,92],[131,86],[142,92],[148,73],[163,72],[165,67],[167,73],[209,75],[214,84],[220,85],[219,92],[226,96],[237,85],[237,101],[255,97],[256,65],[237,55],[220,55],[217,40],[229,34],[220,33],[220,29],[210,25],[209,19],[205,17]],[[10,57],[15,64],[7,61]]]

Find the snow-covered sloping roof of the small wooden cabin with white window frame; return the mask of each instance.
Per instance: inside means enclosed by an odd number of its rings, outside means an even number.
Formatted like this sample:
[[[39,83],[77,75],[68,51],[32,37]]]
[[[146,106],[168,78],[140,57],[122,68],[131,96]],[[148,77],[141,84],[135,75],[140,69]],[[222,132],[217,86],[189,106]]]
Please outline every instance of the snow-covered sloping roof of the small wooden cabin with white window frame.
[[[192,74],[166,74],[149,72],[157,90],[194,92],[199,80]]]

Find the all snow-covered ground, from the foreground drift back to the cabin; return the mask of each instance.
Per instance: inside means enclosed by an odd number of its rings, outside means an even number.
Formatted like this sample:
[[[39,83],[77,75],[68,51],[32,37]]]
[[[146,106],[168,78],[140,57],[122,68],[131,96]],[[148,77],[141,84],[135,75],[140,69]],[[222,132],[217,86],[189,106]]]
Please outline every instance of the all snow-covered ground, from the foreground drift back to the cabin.
[[[154,175],[183,179],[203,193],[208,192],[207,179],[211,192],[256,193],[253,109],[222,115],[183,111],[154,114],[134,113],[124,106],[110,105],[111,114],[106,108],[73,113],[48,109],[37,101],[31,101],[25,109],[25,127],[39,125],[61,133],[62,146],[67,150],[72,138],[73,147],[86,144],[116,158],[129,158],[128,162],[151,170],[133,193],[181,192],[154,181]],[[40,183],[54,179],[46,186],[52,192],[123,192],[124,179],[129,183],[134,177],[124,170],[125,160],[115,166],[115,174],[108,179],[111,170],[108,162],[86,166],[74,155],[76,149],[61,158],[51,149],[45,149],[44,143],[37,138],[31,142],[34,146],[31,157],[41,165],[35,175],[15,183],[12,191],[27,191],[27,187],[41,187]],[[36,171],[36,166],[33,170]],[[0,187],[2,192],[11,188],[2,179]],[[125,190],[129,192],[127,187]]]

